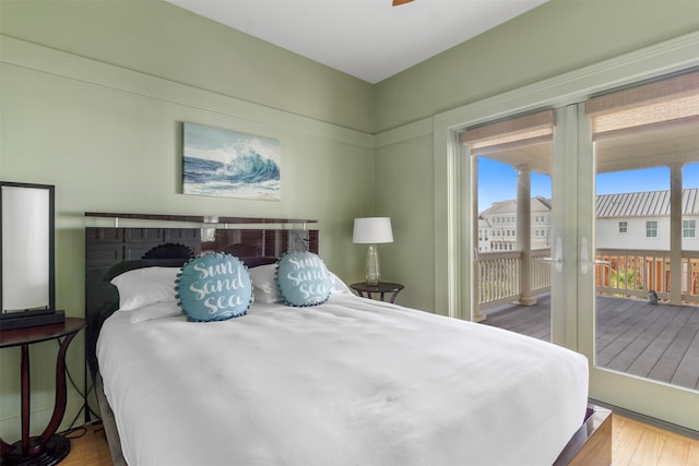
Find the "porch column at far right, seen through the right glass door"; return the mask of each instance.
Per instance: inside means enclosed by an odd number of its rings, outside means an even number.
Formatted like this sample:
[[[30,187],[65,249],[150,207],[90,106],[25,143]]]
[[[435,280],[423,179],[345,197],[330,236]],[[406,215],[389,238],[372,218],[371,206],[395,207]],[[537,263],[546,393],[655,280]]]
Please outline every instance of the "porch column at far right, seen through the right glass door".
[[[682,306],[682,164],[670,166],[670,303]]]

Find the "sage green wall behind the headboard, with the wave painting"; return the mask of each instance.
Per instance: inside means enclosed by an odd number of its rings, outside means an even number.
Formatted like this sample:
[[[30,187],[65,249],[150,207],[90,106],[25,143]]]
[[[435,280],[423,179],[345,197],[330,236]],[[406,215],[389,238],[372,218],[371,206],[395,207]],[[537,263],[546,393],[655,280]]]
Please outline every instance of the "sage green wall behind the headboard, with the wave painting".
[[[0,179],[56,186],[57,304],[68,315],[84,314],[83,228],[97,223],[84,212],[317,218],[329,267],[362,276],[352,222],[375,199],[368,83],[166,2],[0,8]],[[183,121],[277,139],[281,201],[182,194]],[[55,342],[32,348],[33,431],[52,409],[55,354]],[[81,337],[68,357],[81,387],[82,360]],[[0,351],[0,435],[14,441],[19,351]],[[63,427],[79,405],[71,390]]]

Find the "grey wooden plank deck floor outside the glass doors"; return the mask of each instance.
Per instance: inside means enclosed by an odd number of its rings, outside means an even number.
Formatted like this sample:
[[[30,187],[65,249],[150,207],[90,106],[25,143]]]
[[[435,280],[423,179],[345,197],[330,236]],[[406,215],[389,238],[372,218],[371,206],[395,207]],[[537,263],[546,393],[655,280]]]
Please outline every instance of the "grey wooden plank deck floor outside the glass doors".
[[[484,324],[550,340],[550,295],[503,306]],[[699,307],[597,297],[596,365],[699,390]]]

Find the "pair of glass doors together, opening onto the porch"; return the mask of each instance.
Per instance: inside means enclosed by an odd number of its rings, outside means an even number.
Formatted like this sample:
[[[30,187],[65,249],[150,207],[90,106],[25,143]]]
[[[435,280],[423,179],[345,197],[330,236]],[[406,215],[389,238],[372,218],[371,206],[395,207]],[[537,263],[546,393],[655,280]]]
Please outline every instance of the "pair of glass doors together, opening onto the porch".
[[[461,144],[473,320],[584,354],[593,399],[699,430],[699,73]]]

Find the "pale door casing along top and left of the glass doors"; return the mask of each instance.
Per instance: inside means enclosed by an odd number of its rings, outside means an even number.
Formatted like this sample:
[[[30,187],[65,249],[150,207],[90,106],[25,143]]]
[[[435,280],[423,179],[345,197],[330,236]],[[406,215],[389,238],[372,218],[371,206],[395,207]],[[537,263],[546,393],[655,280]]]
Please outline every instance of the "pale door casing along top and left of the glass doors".
[[[466,127],[542,108],[566,107],[612,87],[699,67],[699,32],[435,115],[435,311],[470,320],[472,283],[471,166],[462,162],[459,133]],[[462,247],[471,244],[471,248]]]

